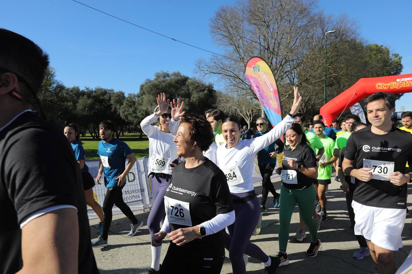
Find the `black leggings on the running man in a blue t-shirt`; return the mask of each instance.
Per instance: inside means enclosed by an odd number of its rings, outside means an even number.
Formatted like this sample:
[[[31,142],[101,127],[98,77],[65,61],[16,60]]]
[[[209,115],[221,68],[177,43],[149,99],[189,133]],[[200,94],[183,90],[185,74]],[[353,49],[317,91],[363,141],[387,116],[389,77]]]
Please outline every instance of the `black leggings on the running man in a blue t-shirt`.
[[[108,233],[109,233],[109,228],[110,224],[112,223],[112,208],[113,205],[116,205],[119,207],[119,209],[123,212],[124,215],[126,215],[127,218],[135,225],[138,223],[138,220],[136,219],[136,216],[133,215],[133,212],[131,211],[130,207],[124,203],[123,200],[123,189],[124,185],[122,187],[108,187],[106,191],[106,196],[103,201],[103,213],[104,213],[104,218],[103,218],[103,231],[102,231],[102,238],[107,239]]]

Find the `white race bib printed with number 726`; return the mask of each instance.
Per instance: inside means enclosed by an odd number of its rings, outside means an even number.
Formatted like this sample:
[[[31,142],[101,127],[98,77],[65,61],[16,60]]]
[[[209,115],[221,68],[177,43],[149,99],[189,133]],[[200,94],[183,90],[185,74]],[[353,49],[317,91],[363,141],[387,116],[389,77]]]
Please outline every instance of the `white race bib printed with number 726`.
[[[189,203],[164,196],[164,210],[169,223],[192,226]]]

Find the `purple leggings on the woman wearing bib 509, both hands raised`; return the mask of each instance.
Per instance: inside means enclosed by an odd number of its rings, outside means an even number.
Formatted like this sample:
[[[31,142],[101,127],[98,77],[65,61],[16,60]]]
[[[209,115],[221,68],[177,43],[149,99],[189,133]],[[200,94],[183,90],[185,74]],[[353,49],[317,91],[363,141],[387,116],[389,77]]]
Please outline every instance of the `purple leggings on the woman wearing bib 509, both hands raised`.
[[[170,182],[170,179],[168,181]],[[147,227],[149,228],[150,239],[153,234],[160,231],[160,222],[163,223],[164,217],[166,216],[163,197],[167,187],[169,187],[169,182],[166,182],[166,179],[158,177],[150,178],[154,201],[152,210],[150,210],[149,217],[147,218]]]

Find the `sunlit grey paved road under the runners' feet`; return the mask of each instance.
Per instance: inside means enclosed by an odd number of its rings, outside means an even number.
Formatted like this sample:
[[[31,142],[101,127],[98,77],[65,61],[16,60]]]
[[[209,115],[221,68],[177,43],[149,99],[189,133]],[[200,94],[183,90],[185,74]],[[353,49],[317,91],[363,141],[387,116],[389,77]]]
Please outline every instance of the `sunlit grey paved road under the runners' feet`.
[[[279,178],[272,180],[279,193]],[[363,260],[355,260],[352,253],[357,251],[359,246],[355,236],[350,230],[349,216],[346,211],[346,201],[340,183],[332,179],[332,184],[326,193],[328,198],[328,221],[322,221],[318,238],[322,241],[321,251],[315,258],[307,258],[304,252],[310,244],[309,233],[303,242],[293,240],[295,231],[299,223],[298,208],[292,215],[290,224],[290,240],[288,243],[288,258],[290,264],[279,267],[277,273],[377,273],[377,267],[372,258],[365,257]],[[255,191],[262,193],[259,183],[255,184]],[[412,194],[412,187],[409,187],[408,194]],[[270,194],[269,194],[270,196]],[[268,208],[271,198],[267,200],[268,213],[262,218],[262,231],[258,236],[252,236],[251,242],[269,255],[275,255],[279,251],[278,230],[279,230],[279,209]],[[408,198],[409,209],[412,210],[412,196]],[[138,219],[147,221],[148,212],[135,212]],[[412,215],[412,212],[411,212]],[[98,219],[90,221],[91,237],[96,237]],[[133,237],[127,237],[129,232],[129,220],[124,215],[116,215],[110,227],[109,246],[94,249],[97,266],[102,274],[126,274],[144,273],[150,268],[150,236],[147,226],[143,226]],[[166,238],[167,239],[167,238]],[[395,253],[396,266],[399,267],[406,259],[412,249],[412,218],[407,217],[405,228],[402,233],[403,248]],[[162,260],[169,247],[169,241],[164,241],[162,249]],[[222,268],[222,274],[232,273],[232,266],[229,260],[229,253],[226,251],[226,258]],[[161,260],[161,261],[162,261]],[[247,273],[263,273],[263,265],[253,258],[249,258],[246,266]]]

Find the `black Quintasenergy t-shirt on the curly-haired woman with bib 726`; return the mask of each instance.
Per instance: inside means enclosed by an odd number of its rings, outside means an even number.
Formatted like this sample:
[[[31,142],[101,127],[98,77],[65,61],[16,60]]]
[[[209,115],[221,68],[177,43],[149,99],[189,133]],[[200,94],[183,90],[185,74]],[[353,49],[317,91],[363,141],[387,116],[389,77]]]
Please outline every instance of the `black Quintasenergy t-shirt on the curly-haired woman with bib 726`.
[[[173,168],[164,202],[166,218],[172,230],[196,226],[233,210],[225,174],[207,158],[195,168],[185,168],[185,162]],[[176,247],[180,253],[190,254],[187,260],[193,260],[194,257],[199,260],[221,258],[225,255],[224,236],[225,230],[222,229]],[[172,247],[173,243],[170,244]],[[183,255],[182,260],[185,260]]]

